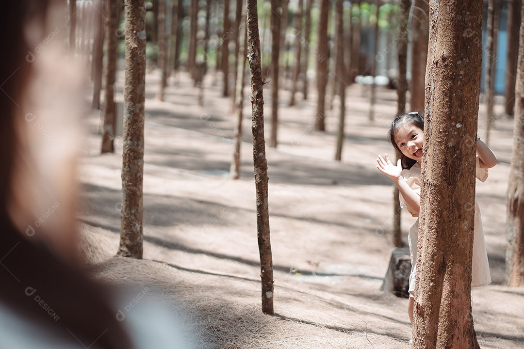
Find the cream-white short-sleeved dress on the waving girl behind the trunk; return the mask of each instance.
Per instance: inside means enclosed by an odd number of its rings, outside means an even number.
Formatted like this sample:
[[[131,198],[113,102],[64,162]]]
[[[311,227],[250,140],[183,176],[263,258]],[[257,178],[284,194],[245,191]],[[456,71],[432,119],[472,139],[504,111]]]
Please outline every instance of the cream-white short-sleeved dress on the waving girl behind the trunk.
[[[420,196],[420,163],[414,164],[409,170],[402,171],[406,183]],[[479,181],[484,182],[488,177],[487,168],[479,166],[477,156],[477,168],[475,176]],[[406,209],[411,216],[418,217],[419,213],[410,210],[406,204],[406,200],[400,195],[400,206]],[[409,294],[414,297],[415,290],[415,273],[417,271],[417,240],[419,235],[419,220],[413,224],[409,229],[408,242],[409,252],[411,255],[411,274],[409,275]],[[484,231],[482,229],[481,211],[478,207],[477,199],[475,197],[475,232],[473,235],[473,261],[472,261],[472,282],[471,287],[485,286],[491,282],[491,275],[489,274],[488,256],[486,246],[484,244]]]

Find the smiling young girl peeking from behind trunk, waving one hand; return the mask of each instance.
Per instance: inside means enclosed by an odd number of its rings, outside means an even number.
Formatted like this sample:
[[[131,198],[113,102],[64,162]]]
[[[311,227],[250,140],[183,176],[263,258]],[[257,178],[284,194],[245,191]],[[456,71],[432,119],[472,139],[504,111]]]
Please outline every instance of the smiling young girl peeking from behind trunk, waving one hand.
[[[388,154],[385,159],[378,155],[377,168],[391,179],[400,191],[400,205],[418,217],[420,209],[420,161],[422,160],[422,144],[424,142],[424,119],[417,112],[398,116],[391,123],[388,132],[391,144],[401,154],[397,165],[391,163]],[[497,157],[489,147],[477,139],[477,169],[476,177],[486,181],[488,168],[497,164]],[[409,320],[413,322],[413,297],[415,288],[415,273],[417,268],[417,240],[419,220],[413,224],[408,233],[409,251],[411,254],[411,274],[409,275]],[[487,285],[491,282],[489,265],[484,246],[482,218],[475,199],[475,232],[473,238],[472,287]]]

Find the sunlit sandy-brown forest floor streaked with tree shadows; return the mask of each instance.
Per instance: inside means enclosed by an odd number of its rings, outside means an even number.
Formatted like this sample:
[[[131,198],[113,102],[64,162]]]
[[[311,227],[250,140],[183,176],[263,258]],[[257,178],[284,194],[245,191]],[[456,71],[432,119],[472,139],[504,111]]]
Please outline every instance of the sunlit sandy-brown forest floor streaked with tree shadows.
[[[123,100],[123,72],[117,100]],[[392,184],[375,167],[392,153],[388,125],[396,92],[378,88],[368,120],[368,87],[347,91],[342,161],[334,161],[339,100],[328,105],[326,132],[313,130],[315,95],[288,107],[281,92],[278,148],[266,148],[275,316],[261,312],[255,184],[247,87],[241,178],[228,178],[233,153],[231,99],[220,78],[204,80],[204,106],[187,73],[177,73],[165,101],[154,99],[159,75],[146,77],[144,259],[114,257],[119,241],[122,140],[100,155],[100,114],[85,118],[81,253],[95,277],[149,285],[179,309],[198,348],[408,348],[407,299],[380,291],[394,246],[388,233]],[[266,139],[270,84],[265,91]],[[479,111],[484,137],[485,106]],[[496,105],[502,114],[503,105]],[[460,111],[457,111],[460,112]],[[500,117],[490,145],[499,164],[478,183],[493,283],[473,290],[473,317],[483,348],[522,348],[524,288],[504,286],[505,194],[512,120]],[[414,219],[402,213],[403,241]]]

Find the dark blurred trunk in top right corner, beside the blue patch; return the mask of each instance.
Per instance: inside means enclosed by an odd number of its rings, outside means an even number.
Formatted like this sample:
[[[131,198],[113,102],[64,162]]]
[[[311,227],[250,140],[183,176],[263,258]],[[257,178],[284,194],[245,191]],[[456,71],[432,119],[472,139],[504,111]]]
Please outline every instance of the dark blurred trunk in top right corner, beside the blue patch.
[[[517,75],[517,55],[519,48],[520,8],[522,0],[508,1],[508,53],[506,65],[506,115],[514,115],[515,76]]]

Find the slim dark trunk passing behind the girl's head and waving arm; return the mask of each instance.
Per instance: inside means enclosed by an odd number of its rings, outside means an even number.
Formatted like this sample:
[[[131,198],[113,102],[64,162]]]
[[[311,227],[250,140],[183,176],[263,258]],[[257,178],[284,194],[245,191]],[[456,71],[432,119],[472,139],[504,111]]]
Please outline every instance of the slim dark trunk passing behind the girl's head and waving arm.
[[[398,87],[397,87],[397,115],[406,112],[406,92],[408,91],[408,81],[406,79],[408,61],[408,21],[411,0],[401,0],[400,2],[400,21],[398,33]],[[399,154],[397,153],[397,160]],[[391,232],[392,243],[395,247],[402,247],[401,227],[400,227],[400,201],[397,186],[393,189],[393,230]]]

